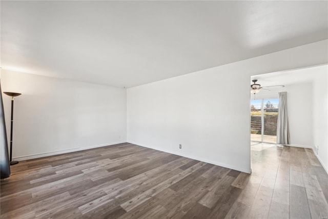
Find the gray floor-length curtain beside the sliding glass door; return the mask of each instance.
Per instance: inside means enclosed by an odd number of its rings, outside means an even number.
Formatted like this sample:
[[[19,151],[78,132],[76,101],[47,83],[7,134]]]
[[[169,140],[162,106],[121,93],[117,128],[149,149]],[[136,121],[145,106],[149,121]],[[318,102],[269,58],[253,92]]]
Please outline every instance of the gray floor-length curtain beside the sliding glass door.
[[[290,136],[287,113],[287,92],[280,92],[277,123],[277,144],[288,145],[289,143]]]

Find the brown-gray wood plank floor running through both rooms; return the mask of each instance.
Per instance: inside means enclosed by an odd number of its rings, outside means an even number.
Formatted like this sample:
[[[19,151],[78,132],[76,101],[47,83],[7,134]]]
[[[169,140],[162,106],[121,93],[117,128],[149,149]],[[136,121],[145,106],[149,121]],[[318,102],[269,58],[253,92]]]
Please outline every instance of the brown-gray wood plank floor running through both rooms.
[[[251,175],[128,143],[20,162],[1,218],[327,218],[312,150],[256,148]]]

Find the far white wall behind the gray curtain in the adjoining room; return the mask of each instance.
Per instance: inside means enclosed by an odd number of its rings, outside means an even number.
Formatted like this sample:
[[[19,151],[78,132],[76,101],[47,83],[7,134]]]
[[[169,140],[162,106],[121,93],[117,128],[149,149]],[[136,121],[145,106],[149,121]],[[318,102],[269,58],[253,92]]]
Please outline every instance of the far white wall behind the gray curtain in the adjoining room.
[[[281,82],[279,83],[283,84]],[[279,92],[287,92],[288,116],[291,137],[290,145],[312,148],[312,82],[286,85],[284,88],[273,89],[271,91],[262,90],[256,94],[255,97],[256,99],[279,98]],[[254,98],[253,94],[252,98]]]

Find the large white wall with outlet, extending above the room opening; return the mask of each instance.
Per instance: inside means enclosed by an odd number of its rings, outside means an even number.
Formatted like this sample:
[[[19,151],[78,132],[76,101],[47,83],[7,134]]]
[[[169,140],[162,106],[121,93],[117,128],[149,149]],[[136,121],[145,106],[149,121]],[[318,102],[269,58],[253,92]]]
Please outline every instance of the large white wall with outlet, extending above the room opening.
[[[250,76],[326,64],[326,48],[327,40],[130,88],[128,142],[250,172]]]

